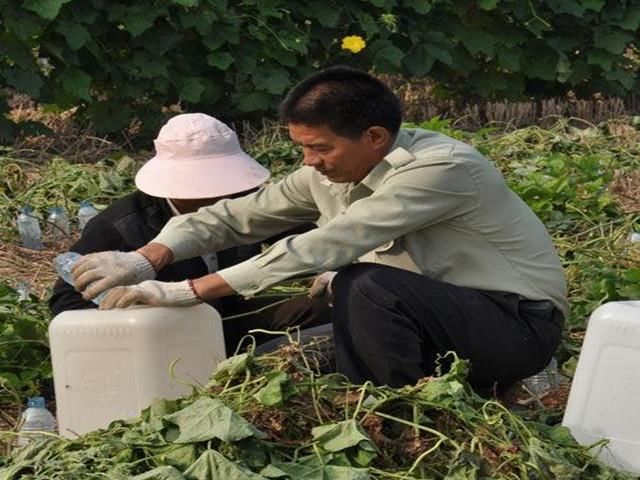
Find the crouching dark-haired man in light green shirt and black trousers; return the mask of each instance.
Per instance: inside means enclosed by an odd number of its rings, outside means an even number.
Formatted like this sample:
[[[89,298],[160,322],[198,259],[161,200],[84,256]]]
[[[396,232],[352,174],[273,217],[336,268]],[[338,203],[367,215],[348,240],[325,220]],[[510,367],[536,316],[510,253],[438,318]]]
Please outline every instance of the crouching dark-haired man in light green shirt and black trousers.
[[[313,290],[332,296],[337,370],[355,383],[413,384],[448,351],[471,361],[479,388],[547,364],[568,312],[562,267],[544,225],[489,160],[444,135],[400,128],[397,97],[346,67],[296,85],[281,116],[303,167],[174,218],[137,252],[87,256],[74,269],[84,296],[129,285],[105,307],[190,305],[325,272]],[[214,274],[152,280],[172,262],[305,222],[318,228]]]

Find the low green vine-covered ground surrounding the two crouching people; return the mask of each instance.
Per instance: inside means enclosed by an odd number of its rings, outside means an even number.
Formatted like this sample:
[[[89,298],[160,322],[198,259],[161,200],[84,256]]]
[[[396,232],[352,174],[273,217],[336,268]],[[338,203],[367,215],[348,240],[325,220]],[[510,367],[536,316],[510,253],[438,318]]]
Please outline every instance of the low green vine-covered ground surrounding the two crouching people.
[[[600,463],[605,444],[578,445],[560,426],[566,390],[590,313],[640,298],[640,118],[599,125],[559,119],[545,127],[465,132],[439,119],[419,126],[473,144],[551,232],[565,266],[572,311],[556,353],[563,391],[486,398],[466,382],[468,365],[402,389],[352,385],[318,372],[313,345],[265,356],[246,352],[219,364],[189,396],[159,401],[137,419],[68,440],[51,435],[15,447],[26,397],[52,398],[46,300],[51,259],[69,241],[45,236],[44,251],[19,247],[23,204],[74,217],[79,202],[100,208],[131,191],[145,152],[113,149],[92,163],[0,150],[0,480],[364,480],[627,479]],[[245,148],[280,176],[299,151],[276,127]],[[73,235],[77,235],[75,232]],[[22,283],[20,283],[22,282]],[[16,288],[25,282],[30,294]]]

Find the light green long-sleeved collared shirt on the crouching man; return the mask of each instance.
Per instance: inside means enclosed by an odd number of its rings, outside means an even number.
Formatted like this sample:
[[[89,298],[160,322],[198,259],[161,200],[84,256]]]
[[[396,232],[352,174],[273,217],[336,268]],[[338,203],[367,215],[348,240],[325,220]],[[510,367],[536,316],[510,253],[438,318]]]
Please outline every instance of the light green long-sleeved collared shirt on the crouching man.
[[[427,130],[401,129],[358,184],[332,183],[302,167],[246,197],[174,217],[153,241],[179,261],[307,222],[319,228],[218,274],[249,296],[290,277],[368,261],[551,300],[565,316],[569,311],[562,266],[542,222],[478,151]]]

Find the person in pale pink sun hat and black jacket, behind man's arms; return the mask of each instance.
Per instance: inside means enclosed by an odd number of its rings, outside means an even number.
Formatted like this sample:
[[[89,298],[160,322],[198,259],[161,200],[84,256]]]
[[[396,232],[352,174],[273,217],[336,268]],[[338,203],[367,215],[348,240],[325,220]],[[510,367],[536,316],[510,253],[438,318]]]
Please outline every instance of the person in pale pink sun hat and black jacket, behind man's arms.
[[[120,254],[139,255],[135,250],[158,235],[171,218],[195,212],[222,199],[247,195],[257,190],[270,175],[266,168],[242,150],[231,128],[203,113],[171,118],[160,129],[154,147],[155,156],[136,174],[137,190],[91,219],[71,251],[85,255],[113,250]],[[308,228],[308,225],[304,227]],[[297,231],[302,230],[293,233]],[[260,241],[263,240],[267,243],[273,241],[256,238],[245,245],[176,262],[161,269],[157,277],[155,271],[152,275],[178,286],[178,296],[183,294],[180,287],[189,293],[187,279],[216,272],[259,254]],[[145,263],[144,258],[138,261]],[[209,303],[223,316],[252,310],[256,305],[263,306],[257,299],[247,302],[239,296]],[[83,299],[62,279],[55,283],[49,306],[54,315],[65,310],[96,308],[94,303]],[[251,328],[278,330],[286,328],[289,322],[314,326],[330,321],[328,307],[305,299],[270,310],[262,316],[225,322],[227,350],[235,349],[237,341]],[[325,310],[326,318],[320,320]]]

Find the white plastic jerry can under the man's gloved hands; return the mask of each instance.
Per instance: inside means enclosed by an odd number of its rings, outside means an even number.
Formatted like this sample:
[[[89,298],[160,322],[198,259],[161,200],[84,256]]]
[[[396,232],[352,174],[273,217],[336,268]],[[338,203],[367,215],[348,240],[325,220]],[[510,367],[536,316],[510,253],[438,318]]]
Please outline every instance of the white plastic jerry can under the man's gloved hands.
[[[226,357],[222,320],[207,304],[70,310],[49,325],[49,342],[66,437],[189,393]]]

